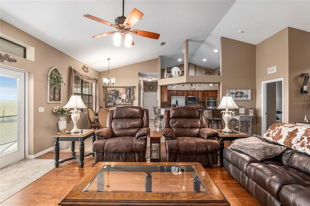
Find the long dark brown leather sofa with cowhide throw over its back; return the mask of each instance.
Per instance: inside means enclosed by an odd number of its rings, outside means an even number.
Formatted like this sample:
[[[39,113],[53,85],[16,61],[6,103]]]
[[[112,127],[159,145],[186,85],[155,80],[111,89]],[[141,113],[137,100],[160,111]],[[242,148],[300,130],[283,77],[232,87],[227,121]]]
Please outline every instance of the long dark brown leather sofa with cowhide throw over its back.
[[[284,140],[287,149],[278,156],[258,161],[231,148],[232,145],[225,147],[226,171],[263,206],[310,206],[310,155],[293,149],[305,146],[309,152],[310,127],[276,123],[266,134],[264,142],[279,146]]]

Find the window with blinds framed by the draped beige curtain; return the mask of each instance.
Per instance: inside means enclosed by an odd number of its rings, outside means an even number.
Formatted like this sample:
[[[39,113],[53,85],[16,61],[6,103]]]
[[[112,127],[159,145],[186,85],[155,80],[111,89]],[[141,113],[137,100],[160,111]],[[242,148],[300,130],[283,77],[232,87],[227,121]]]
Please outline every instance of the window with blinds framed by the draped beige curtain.
[[[86,107],[93,108],[93,83],[85,82],[78,75],[74,74],[74,93],[81,96]],[[80,111],[87,113],[86,109],[81,109]]]

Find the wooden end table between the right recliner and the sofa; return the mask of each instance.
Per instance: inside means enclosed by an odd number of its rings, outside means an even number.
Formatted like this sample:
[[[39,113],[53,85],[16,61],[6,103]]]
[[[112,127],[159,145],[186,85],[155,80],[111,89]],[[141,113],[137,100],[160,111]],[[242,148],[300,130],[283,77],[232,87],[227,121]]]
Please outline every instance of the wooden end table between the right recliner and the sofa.
[[[249,137],[248,134],[236,131],[236,130],[232,130],[231,133],[227,133],[227,132],[222,132],[222,130],[217,130],[217,136],[216,136],[220,143],[219,143],[219,163],[221,166],[223,166],[223,149],[224,149],[224,141],[229,140],[235,140],[235,139],[239,139],[239,138],[245,138],[245,137]]]

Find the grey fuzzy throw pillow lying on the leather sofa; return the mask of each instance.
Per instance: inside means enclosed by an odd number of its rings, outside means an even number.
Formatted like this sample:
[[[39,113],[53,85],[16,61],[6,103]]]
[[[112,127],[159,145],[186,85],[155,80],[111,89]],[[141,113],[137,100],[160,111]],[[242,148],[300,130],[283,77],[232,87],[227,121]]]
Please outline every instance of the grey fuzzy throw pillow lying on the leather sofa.
[[[230,147],[247,153],[258,161],[273,158],[286,149],[286,147],[283,146],[263,142],[263,140],[258,137],[238,139]]]

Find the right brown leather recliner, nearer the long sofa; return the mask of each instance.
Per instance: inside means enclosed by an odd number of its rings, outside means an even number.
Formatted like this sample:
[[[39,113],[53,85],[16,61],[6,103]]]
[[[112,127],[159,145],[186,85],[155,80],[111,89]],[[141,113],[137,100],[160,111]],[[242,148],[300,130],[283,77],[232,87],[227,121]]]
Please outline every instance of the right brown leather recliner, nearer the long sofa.
[[[193,106],[171,107],[164,113],[167,162],[217,164],[216,130],[206,128],[203,111]]]

